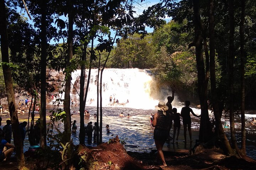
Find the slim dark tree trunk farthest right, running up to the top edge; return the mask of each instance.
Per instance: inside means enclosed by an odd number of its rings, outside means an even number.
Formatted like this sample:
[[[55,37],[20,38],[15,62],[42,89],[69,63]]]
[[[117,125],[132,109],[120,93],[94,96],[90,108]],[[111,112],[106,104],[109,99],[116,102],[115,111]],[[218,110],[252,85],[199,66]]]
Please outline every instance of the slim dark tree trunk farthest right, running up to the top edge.
[[[244,39],[244,22],[245,22],[245,0],[241,0],[241,21],[240,21],[240,55],[241,55],[241,154],[245,152],[245,39]]]

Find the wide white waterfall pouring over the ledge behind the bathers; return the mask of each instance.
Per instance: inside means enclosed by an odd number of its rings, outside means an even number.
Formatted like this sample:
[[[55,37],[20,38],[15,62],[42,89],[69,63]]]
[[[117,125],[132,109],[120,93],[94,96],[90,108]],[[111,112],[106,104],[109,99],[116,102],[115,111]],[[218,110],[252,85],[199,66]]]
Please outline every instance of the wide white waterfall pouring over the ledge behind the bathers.
[[[86,70],[88,75],[89,70]],[[79,102],[80,73],[76,70],[72,73],[70,98]],[[97,73],[98,69],[91,69],[90,84],[86,98],[86,106],[97,106]],[[100,80],[100,79],[99,79]],[[87,83],[87,79],[85,84]],[[76,90],[78,93],[76,92]],[[103,107],[130,107],[138,109],[154,109],[159,101],[167,102],[167,96],[172,95],[171,88],[160,86],[154,80],[148,69],[114,69],[105,68],[102,74],[102,106]],[[110,103],[115,98],[119,103]],[[64,93],[59,95],[64,99]],[[127,103],[129,100],[129,103]],[[173,105],[179,105],[175,96]]]

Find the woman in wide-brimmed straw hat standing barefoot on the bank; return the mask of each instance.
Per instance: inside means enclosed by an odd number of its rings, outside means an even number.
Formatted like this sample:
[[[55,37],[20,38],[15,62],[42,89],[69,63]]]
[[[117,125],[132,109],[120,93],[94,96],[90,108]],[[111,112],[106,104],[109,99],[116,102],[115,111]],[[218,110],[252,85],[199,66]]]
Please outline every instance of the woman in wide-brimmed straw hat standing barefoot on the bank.
[[[156,149],[158,150],[158,156],[162,160],[163,165],[161,167],[166,167],[164,153],[162,152],[162,147],[168,137],[168,122],[170,119],[170,114],[166,112],[168,110],[168,106],[165,105],[165,102],[159,102],[155,108],[158,110],[154,115],[152,126],[155,127],[154,130],[154,140]]]

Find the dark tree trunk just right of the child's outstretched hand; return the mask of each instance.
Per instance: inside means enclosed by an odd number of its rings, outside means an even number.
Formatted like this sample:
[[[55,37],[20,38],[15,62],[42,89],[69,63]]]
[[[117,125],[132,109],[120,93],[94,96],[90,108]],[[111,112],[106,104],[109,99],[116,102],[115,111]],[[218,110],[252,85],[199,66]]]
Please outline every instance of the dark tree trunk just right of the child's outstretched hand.
[[[207,105],[207,85],[208,79],[204,72],[204,60],[202,50],[202,30],[201,30],[201,18],[199,1],[193,0],[194,10],[194,46],[196,47],[196,63],[197,63],[197,78],[198,78],[198,95],[201,106],[201,119],[199,129],[199,140],[201,142],[207,142],[209,140],[210,121]]]

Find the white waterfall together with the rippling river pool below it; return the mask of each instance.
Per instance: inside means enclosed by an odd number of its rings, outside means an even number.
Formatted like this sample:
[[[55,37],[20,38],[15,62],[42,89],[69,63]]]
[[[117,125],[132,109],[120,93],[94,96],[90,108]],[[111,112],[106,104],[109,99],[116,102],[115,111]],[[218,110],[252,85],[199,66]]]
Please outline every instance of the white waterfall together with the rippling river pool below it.
[[[97,106],[97,69],[91,70],[89,91],[86,100],[86,109],[90,111],[91,117],[85,119],[85,125],[90,121],[96,121],[93,115],[96,112]],[[81,70],[76,70],[72,73],[72,86],[70,96],[75,102],[79,101],[79,95],[76,90],[80,89],[80,73]],[[86,70],[88,74],[88,70]],[[87,81],[85,82],[85,84]],[[75,87],[75,88],[74,88]],[[76,90],[75,90],[76,89]],[[125,148],[127,151],[135,152],[150,152],[151,148],[155,147],[153,139],[153,128],[149,123],[149,116],[151,113],[155,113],[154,106],[159,101],[167,102],[167,96],[172,95],[172,89],[167,86],[159,86],[154,81],[150,70],[147,69],[104,69],[102,76],[102,104],[103,104],[103,125],[102,125],[102,139],[103,142],[107,142],[113,136],[118,135],[120,140],[126,142]],[[112,95],[112,102],[110,103],[110,95]],[[64,99],[64,94],[59,95],[59,98]],[[118,99],[119,103],[113,103],[113,99]],[[91,100],[92,99],[92,100]],[[126,103],[127,99],[129,103]],[[54,99],[55,100],[55,99]],[[52,103],[49,103],[52,104]],[[178,96],[175,94],[175,99],[172,102],[172,107],[177,108],[177,112],[181,112],[181,108],[184,107],[184,101],[179,101]],[[79,106],[71,107],[71,111],[78,111]],[[201,114],[201,109],[192,108],[193,112],[197,115]],[[118,115],[123,112],[124,115],[128,113],[132,116],[130,118],[119,117]],[[256,125],[251,125],[250,121],[252,117],[256,117],[255,113],[246,113],[246,145],[248,144],[247,153],[252,157],[256,157],[255,151],[255,134]],[[213,114],[209,111],[209,117],[213,118]],[[194,117],[191,114],[192,130],[199,130],[200,119]],[[79,144],[78,133],[80,128],[80,117],[77,112],[72,116],[71,120],[77,121],[77,134],[73,134],[74,144]],[[228,117],[222,117],[222,124],[229,124]],[[241,133],[241,120],[239,117],[235,117],[235,128],[237,132],[238,143],[241,141],[239,136]],[[110,125],[110,134],[106,133],[106,125]],[[182,120],[181,120],[182,125]],[[181,130],[183,127],[181,126]],[[172,134],[171,129],[171,134]],[[227,137],[230,137],[229,128],[225,128]],[[87,144],[95,146],[95,144]],[[254,151],[251,151],[254,148]],[[248,150],[249,149],[249,150]]]

